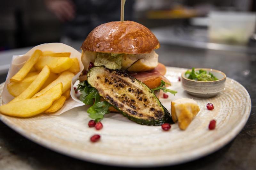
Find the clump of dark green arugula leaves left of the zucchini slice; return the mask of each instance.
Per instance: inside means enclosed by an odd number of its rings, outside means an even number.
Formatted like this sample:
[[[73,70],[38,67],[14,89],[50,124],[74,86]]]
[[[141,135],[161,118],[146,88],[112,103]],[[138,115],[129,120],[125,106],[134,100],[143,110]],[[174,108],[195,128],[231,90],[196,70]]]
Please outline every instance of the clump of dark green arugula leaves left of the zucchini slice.
[[[77,90],[81,92],[80,100],[86,105],[92,105],[87,109],[90,118],[99,122],[105,114],[109,113],[108,108],[111,105],[107,101],[100,101],[99,92],[87,81],[80,82]]]

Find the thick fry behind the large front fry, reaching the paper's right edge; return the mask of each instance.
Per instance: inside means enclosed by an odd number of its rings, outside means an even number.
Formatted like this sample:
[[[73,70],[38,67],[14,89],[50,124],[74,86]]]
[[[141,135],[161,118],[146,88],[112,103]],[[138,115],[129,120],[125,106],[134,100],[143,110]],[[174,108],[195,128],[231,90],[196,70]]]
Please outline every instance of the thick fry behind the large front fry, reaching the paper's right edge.
[[[52,83],[47,85],[40,92],[36,93],[33,97],[40,96],[40,95],[44,94],[47,90],[49,90],[53,86],[57,85],[58,83],[62,83],[62,85],[63,85],[62,93],[66,92],[68,89],[70,89],[71,80],[74,76],[75,75],[69,71],[63,71],[56,80],[54,80]]]

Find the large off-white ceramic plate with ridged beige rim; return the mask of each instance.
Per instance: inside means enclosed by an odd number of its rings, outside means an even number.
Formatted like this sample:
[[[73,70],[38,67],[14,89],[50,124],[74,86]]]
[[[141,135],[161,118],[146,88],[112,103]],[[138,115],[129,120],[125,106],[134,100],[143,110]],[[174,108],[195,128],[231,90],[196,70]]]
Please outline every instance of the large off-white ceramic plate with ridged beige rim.
[[[100,131],[87,126],[90,118],[87,107],[77,107],[62,115],[42,114],[32,118],[0,115],[0,119],[32,141],[78,159],[116,166],[164,166],[197,159],[212,153],[231,141],[244,127],[250,112],[251,99],[246,89],[227,78],[226,89],[216,97],[201,99],[187,94],[178,77],[186,69],[168,67],[166,77],[178,93],[160,99],[170,111],[171,100],[194,98],[200,112],[188,129],[182,131],[173,124],[170,131],[161,126],[136,124],[120,114],[105,115]],[[3,84],[0,85],[2,91]],[[0,96],[1,99],[1,96]],[[213,103],[214,110],[206,104]],[[1,102],[2,103],[2,102]],[[217,121],[215,130],[208,130],[209,122]],[[100,134],[97,143],[89,141]]]

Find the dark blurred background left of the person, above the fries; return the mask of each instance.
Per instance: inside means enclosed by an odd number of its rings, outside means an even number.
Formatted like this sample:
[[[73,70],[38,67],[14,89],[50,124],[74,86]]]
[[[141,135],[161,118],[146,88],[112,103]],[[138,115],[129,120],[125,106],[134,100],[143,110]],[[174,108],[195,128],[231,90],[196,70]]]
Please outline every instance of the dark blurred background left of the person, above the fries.
[[[4,0],[0,5],[0,50],[59,41],[61,23],[42,0]]]

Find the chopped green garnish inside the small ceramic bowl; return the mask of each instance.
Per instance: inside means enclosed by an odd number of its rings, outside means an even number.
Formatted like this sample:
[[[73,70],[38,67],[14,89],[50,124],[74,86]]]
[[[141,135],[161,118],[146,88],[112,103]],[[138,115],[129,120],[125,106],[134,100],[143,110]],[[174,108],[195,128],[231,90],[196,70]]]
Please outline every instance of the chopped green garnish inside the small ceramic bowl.
[[[185,75],[188,75],[187,78],[191,80],[197,80],[197,81],[215,81],[218,80],[212,73],[208,72],[206,70],[198,70],[195,71],[195,68],[193,67],[191,71],[186,71]]]

